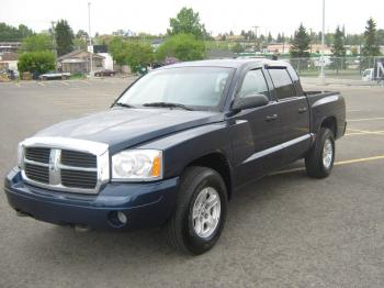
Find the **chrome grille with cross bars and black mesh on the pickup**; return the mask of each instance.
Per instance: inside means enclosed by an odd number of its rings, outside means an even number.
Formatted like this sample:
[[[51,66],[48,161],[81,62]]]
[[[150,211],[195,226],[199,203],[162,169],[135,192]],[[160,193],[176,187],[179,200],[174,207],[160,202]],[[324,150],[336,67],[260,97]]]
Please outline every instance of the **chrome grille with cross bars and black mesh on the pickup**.
[[[68,147],[67,139],[37,140],[23,142],[21,166],[26,182],[52,190],[97,193],[101,185],[109,180],[108,145],[76,140],[76,144],[83,149],[77,151]],[[53,147],[48,146],[49,142]]]

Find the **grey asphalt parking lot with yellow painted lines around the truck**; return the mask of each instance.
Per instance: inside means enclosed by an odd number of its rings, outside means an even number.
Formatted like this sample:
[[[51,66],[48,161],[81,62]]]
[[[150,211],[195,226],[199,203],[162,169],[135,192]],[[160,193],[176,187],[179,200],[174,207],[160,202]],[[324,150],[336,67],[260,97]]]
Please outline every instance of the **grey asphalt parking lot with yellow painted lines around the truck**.
[[[19,141],[108,108],[129,81],[0,84],[0,177]],[[0,287],[384,287],[384,88],[325,89],[346,97],[349,122],[331,176],[310,179],[298,162],[242,189],[199,257],[158,230],[77,233],[18,218],[0,192]]]

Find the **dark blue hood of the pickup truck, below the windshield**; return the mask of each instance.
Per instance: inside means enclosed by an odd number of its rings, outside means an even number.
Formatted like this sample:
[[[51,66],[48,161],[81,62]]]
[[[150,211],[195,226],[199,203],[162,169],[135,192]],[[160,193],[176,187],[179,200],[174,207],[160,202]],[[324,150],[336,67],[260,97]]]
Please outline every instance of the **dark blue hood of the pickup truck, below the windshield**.
[[[219,122],[219,112],[177,109],[113,108],[49,126],[35,136],[57,136],[101,142],[111,153],[178,131]]]

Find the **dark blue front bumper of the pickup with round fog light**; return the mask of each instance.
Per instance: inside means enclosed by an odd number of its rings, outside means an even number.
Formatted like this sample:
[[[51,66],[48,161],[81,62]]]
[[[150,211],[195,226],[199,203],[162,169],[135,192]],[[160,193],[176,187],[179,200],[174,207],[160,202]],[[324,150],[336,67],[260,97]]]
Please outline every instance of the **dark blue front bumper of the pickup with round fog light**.
[[[5,177],[10,206],[36,220],[86,225],[91,229],[138,229],[159,226],[172,213],[179,178],[145,184],[108,184],[98,195],[76,195],[37,188],[23,182],[19,168]],[[124,212],[127,223],[116,219]]]

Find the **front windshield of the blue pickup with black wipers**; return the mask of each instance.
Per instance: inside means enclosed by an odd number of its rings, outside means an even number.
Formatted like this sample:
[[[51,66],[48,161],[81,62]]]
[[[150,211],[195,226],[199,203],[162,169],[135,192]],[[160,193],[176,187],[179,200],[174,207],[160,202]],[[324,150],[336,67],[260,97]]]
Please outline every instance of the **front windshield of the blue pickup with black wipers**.
[[[222,67],[155,70],[126,90],[117,103],[148,108],[180,104],[193,110],[217,111],[231,71],[231,68]]]

